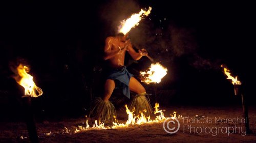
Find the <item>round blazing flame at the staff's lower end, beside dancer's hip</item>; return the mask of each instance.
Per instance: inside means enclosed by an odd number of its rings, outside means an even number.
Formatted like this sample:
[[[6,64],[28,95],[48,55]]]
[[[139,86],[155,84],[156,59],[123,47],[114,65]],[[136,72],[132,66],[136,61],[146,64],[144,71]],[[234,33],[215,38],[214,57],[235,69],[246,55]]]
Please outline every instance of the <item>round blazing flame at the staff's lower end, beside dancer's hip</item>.
[[[151,64],[150,70],[147,72],[140,72],[143,79],[142,82],[147,84],[159,83],[161,79],[167,74],[167,69],[159,63]]]

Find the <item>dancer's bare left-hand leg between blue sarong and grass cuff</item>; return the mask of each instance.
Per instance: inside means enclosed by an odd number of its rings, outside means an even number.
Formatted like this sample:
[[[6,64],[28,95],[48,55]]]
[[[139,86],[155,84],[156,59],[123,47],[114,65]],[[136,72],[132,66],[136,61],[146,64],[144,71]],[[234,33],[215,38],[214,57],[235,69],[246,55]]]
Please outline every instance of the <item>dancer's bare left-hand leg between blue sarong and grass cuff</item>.
[[[107,79],[104,85],[104,95],[103,95],[103,100],[104,101],[109,101],[114,89],[116,87],[115,81],[112,79]]]

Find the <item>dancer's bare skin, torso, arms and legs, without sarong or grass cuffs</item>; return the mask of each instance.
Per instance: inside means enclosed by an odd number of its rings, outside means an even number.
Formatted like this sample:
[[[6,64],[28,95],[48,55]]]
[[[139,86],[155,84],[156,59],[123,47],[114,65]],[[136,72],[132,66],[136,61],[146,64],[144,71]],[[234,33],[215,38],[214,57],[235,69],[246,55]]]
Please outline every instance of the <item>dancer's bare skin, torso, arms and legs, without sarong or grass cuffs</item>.
[[[108,60],[109,66],[114,69],[122,69],[124,67],[124,55],[128,51],[132,58],[137,61],[143,55],[147,55],[145,49],[136,52],[129,40],[126,40],[126,36],[122,33],[117,34],[116,37],[108,37],[105,40],[104,47],[104,60]],[[136,94],[145,93],[145,88],[140,84],[140,82],[131,76],[129,88]],[[115,81],[113,79],[107,79],[104,85],[104,96],[103,100],[108,101],[115,89]],[[127,95],[130,98],[130,95]]]

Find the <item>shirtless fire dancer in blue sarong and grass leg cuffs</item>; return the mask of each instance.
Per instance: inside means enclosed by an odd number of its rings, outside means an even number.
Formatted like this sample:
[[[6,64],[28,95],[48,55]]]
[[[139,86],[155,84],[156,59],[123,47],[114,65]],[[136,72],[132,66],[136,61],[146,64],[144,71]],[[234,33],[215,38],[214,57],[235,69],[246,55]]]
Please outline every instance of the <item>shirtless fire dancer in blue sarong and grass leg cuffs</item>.
[[[147,55],[145,49],[136,52],[130,40],[126,40],[127,34],[118,33],[115,37],[108,37],[105,40],[104,60],[108,62],[109,72],[104,85],[104,94],[102,98],[95,101],[90,115],[101,120],[109,120],[116,116],[114,105],[109,101],[115,88],[122,88],[123,94],[130,99],[130,90],[136,93],[136,96],[130,103],[130,109],[135,108],[136,114],[139,111],[145,111],[150,115],[152,107],[147,99],[145,88],[141,83],[126,70],[124,66],[125,52],[129,52],[134,60],[139,60]]]

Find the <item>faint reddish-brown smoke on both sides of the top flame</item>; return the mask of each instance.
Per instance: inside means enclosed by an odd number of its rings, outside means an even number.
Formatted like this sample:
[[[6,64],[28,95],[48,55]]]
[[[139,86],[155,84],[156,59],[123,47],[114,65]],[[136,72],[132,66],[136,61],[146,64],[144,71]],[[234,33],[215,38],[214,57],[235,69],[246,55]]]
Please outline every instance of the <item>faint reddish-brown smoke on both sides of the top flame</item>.
[[[115,1],[102,5],[101,19],[105,21],[105,37],[113,36],[120,21],[138,13],[142,7],[135,1]],[[175,21],[159,17],[154,6],[150,15],[132,28],[129,37],[135,49],[146,48],[156,61],[172,62],[175,58],[187,59],[197,69],[219,68],[219,61],[207,59],[199,54],[197,31],[182,27]]]

